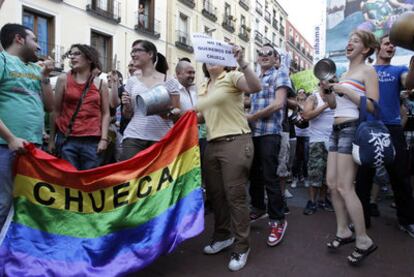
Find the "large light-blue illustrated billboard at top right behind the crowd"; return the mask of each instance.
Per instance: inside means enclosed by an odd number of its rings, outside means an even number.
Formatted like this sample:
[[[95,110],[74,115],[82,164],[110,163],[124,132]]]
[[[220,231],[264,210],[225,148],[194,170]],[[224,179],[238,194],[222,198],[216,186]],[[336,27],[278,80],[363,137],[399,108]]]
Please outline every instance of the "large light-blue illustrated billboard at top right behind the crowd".
[[[400,14],[412,10],[414,0],[327,0],[326,56],[346,63],[345,47],[352,31],[367,30],[381,37],[389,33]],[[396,56],[410,55],[411,51],[397,49]],[[402,60],[408,63],[409,58]]]

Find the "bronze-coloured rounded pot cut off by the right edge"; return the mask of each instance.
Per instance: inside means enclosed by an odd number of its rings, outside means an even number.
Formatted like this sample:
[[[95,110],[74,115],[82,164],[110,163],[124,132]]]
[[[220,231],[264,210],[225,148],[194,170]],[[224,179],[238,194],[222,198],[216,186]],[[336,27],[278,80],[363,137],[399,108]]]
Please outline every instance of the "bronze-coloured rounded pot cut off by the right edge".
[[[390,30],[392,44],[414,51],[414,12],[400,15]]]

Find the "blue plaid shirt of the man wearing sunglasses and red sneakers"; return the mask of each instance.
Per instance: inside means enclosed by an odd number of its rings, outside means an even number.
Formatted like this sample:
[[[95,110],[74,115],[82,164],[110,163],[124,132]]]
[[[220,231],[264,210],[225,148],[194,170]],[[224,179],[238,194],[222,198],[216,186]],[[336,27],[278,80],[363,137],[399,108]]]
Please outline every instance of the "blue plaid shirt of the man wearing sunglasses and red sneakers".
[[[273,101],[275,101],[276,95],[275,91],[279,88],[285,87],[291,89],[292,85],[289,79],[288,72],[281,68],[277,70],[272,67],[266,71],[261,77],[262,91],[256,94],[252,94],[251,99],[251,110],[250,113],[254,114],[259,110],[262,110],[269,106]],[[267,118],[261,118],[252,122],[251,127],[253,131],[253,136],[265,136],[280,134],[282,130],[282,112],[283,109],[273,113]]]

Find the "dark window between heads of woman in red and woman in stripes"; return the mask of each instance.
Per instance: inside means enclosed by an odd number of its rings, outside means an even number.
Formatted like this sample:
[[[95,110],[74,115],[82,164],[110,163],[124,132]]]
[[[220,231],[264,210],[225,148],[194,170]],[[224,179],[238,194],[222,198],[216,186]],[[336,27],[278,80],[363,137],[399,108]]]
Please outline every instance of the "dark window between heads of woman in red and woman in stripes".
[[[112,68],[112,37],[92,31],[91,46],[99,53],[102,71],[108,72],[114,69]]]

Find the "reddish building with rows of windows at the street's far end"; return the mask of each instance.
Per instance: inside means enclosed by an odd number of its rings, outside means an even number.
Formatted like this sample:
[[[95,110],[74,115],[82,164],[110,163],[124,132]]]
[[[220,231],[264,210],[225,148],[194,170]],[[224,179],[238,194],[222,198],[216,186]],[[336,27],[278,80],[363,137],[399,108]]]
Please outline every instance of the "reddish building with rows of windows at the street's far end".
[[[312,45],[289,20],[286,21],[286,29],[286,51],[292,57],[291,71],[311,69],[314,55]]]

